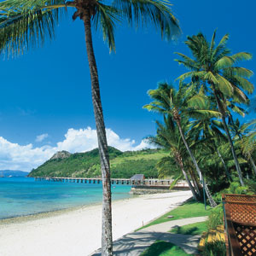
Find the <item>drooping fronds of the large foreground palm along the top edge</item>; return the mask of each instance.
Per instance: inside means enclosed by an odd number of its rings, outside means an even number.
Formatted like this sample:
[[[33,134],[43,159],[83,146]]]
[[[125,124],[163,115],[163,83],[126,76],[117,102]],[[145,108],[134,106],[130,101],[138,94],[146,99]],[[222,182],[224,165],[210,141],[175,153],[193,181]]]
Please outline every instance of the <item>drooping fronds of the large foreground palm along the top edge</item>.
[[[87,8],[86,8],[87,7]],[[77,10],[73,20],[83,19],[88,5],[81,8],[78,1],[65,0],[6,0],[0,3],[0,51],[23,53],[24,49],[43,45],[45,38],[54,38],[59,16],[67,9]],[[91,10],[93,9],[93,14]],[[138,26],[153,22],[162,37],[173,38],[180,33],[178,21],[172,15],[170,4],[157,0],[90,1],[90,19],[96,30],[102,32],[110,50],[115,49],[114,28],[120,20],[132,21]]]

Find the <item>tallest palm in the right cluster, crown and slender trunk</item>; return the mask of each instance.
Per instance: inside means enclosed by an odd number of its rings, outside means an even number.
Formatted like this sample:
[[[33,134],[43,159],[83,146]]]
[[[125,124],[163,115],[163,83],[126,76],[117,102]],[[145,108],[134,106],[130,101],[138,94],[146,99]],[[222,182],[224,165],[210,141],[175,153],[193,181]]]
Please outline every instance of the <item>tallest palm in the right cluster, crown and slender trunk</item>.
[[[250,60],[252,55],[247,52],[230,55],[230,49],[226,47],[229,35],[224,35],[216,47],[215,36],[216,32],[213,33],[211,43],[207,42],[207,38],[201,33],[196,36],[188,37],[185,44],[187,44],[191,50],[194,59],[189,58],[187,55],[177,53],[182,60],[176,61],[190,70],[189,73],[184,73],[178,79],[181,81],[186,78],[191,78],[196,81],[200,80],[214,96],[218,105],[218,111],[222,114],[224,131],[230,143],[240,183],[244,186],[241,168],[225,120],[227,117],[225,101],[226,99],[233,99],[234,102],[248,103],[248,98],[242,90],[253,93],[253,84],[247,80],[253,75],[253,72],[244,67],[237,67],[236,63]]]

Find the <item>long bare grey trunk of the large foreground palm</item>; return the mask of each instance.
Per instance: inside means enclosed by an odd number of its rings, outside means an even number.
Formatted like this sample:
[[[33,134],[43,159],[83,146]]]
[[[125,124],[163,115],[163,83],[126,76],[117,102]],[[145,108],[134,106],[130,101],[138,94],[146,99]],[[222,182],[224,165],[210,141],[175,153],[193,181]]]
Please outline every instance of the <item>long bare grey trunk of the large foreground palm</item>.
[[[96,119],[96,131],[98,139],[99,154],[102,167],[102,255],[113,255],[112,241],[112,213],[111,213],[111,183],[110,183],[110,166],[108,155],[108,143],[106,137],[105,124],[102,113],[102,101],[100,96],[100,86],[96,67],[96,59],[93,50],[91,27],[90,27],[90,10],[84,10],[84,32],[85,43],[90,67],[91,94],[93,110]]]

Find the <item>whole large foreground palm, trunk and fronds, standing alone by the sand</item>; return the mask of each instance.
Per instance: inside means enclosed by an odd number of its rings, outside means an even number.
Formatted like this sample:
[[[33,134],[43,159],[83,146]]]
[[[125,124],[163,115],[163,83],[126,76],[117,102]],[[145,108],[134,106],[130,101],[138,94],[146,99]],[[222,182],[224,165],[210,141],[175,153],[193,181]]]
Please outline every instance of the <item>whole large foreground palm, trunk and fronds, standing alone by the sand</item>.
[[[102,166],[102,255],[112,255],[111,183],[108,143],[102,113],[102,102],[91,26],[102,30],[110,50],[115,49],[113,30],[116,21],[125,18],[135,25],[153,22],[162,37],[172,38],[179,32],[176,18],[167,1],[116,0],[6,0],[0,3],[0,49],[8,54],[42,45],[47,36],[53,38],[55,23],[67,9],[74,9],[73,20],[84,23],[85,44],[90,67],[91,93],[96,119],[98,148]],[[93,22],[93,23],[92,23]]]

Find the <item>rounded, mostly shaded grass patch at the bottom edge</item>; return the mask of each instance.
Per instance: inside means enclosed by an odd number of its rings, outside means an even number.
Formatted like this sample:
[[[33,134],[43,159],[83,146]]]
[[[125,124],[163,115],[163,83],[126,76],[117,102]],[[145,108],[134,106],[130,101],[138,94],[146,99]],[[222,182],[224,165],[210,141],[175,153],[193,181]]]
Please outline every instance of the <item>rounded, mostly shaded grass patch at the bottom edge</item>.
[[[146,251],[140,256],[187,256],[182,248],[177,247],[171,242],[155,241]]]

